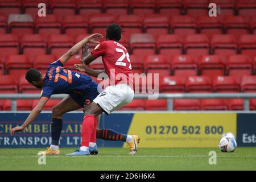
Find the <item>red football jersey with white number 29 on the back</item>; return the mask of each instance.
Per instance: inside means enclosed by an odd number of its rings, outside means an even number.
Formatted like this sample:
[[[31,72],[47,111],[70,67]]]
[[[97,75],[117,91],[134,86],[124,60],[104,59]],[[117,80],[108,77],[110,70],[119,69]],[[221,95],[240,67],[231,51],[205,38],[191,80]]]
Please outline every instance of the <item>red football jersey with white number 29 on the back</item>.
[[[113,80],[114,84],[122,81],[122,83],[127,83],[134,89],[133,71],[131,69],[129,53],[122,44],[113,40],[101,42],[94,48],[92,55],[95,58],[102,56],[106,73],[112,84]]]

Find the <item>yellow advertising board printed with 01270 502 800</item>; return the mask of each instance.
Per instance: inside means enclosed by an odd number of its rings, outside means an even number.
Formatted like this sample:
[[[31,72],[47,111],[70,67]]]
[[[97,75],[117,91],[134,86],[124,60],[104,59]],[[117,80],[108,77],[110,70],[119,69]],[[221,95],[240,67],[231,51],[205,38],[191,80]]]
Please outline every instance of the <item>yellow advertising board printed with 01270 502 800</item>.
[[[139,135],[139,147],[216,147],[236,131],[236,113],[136,113],[128,134]]]

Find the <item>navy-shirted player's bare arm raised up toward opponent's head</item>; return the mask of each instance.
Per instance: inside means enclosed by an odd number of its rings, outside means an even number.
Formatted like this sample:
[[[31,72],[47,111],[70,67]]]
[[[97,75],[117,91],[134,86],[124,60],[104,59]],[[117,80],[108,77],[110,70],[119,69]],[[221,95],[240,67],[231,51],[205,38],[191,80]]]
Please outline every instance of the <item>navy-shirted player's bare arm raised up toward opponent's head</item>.
[[[101,34],[92,34],[87,36],[86,38],[82,39],[80,42],[76,43],[71,49],[68,50],[60,59],[65,64],[73,55],[75,55],[86,43],[99,43],[95,41],[95,39],[102,39],[103,35]]]

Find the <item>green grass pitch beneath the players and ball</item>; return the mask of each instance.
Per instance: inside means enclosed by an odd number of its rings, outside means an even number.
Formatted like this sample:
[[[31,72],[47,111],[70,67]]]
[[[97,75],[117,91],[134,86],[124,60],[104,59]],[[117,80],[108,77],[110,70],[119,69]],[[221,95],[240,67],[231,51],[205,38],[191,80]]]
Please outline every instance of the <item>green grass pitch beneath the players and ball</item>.
[[[61,148],[60,155],[38,164],[44,148],[0,148],[0,170],[256,170],[256,147],[238,147],[233,153],[218,148],[99,148],[98,155],[65,156],[75,148]],[[217,164],[209,164],[209,151],[217,152]]]

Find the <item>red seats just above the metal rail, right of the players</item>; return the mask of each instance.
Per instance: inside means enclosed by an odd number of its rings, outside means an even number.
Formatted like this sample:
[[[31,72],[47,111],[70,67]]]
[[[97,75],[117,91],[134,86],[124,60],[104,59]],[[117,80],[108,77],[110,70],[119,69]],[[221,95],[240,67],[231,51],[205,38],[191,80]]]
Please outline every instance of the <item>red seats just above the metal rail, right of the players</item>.
[[[159,88],[160,93],[239,93],[256,92],[256,76],[243,76],[241,84],[233,76],[163,76],[159,82],[148,78],[135,80],[135,93],[150,93]]]

